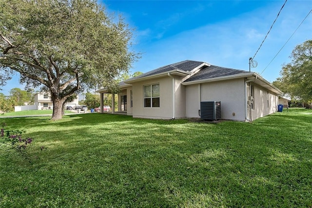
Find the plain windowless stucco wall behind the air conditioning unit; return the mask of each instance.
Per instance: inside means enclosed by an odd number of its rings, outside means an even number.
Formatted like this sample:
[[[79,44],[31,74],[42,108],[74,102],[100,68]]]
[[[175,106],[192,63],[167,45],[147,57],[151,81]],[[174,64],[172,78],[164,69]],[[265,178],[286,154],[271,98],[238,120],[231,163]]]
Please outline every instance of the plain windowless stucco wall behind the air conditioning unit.
[[[186,117],[200,118],[202,101],[221,101],[221,119],[245,121],[243,79],[186,86]]]

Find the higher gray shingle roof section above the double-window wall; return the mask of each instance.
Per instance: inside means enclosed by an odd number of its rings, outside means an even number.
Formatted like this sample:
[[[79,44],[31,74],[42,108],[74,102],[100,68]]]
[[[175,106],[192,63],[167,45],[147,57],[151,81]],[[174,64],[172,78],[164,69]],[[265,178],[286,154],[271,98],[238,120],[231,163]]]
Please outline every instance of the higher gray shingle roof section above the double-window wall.
[[[152,71],[146,72],[144,74],[141,74],[137,77],[131,78],[127,81],[132,81],[132,80],[136,80],[138,78],[142,78],[142,77],[148,77],[151,75],[155,75],[155,74],[160,74],[163,72],[167,72],[167,71],[172,71],[172,70],[182,70],[182,71],[191,71],[192,69],[194,69],[195,67],[199,66],[200,64],[202,64],[204,62],[197,62],[197,61],[190,61],[190,60],[185,60],[183,62],[177,62],[177,63],[172,63],[166,66],[162,66],[159,68],[156,68]]]

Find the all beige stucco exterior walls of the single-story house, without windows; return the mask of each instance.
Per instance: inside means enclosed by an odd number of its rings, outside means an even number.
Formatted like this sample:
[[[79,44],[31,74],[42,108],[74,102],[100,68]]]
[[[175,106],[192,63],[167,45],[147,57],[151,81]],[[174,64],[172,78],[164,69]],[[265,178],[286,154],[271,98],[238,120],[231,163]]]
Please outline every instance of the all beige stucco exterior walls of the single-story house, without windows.
[[[143,86],[159,83],[160,107],[145,108]],[[118,95],[118,110],[120,111],[121,95],[127,95],[127,114],[136,118],[172,119],[200,118],[198,110],[201,101],[221,101],[221,119],[245,121],[245,80],[235,79],[213,83],[181,85],[181,77],[175,76],[175,114],[173,108],[173,79],[171,77],[133,83]],[[248,83],[248,85],[251,83]],[[267,89],[254,84],[254,109],[252,120],[277,111],[278,96]],[[130,102],[130,90],[133,90],[133,107]],[[247,98],[250,87],[247,86]],[[269,106],[267,102],[269,92]],[[248,108],[249,109],[249,108]],[[247,118],[249,118],[249,113]]]

